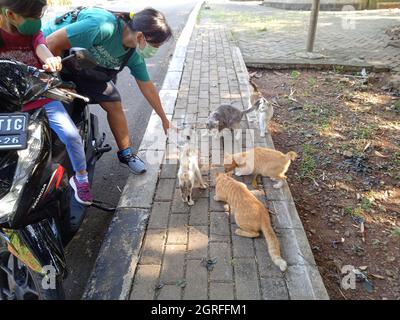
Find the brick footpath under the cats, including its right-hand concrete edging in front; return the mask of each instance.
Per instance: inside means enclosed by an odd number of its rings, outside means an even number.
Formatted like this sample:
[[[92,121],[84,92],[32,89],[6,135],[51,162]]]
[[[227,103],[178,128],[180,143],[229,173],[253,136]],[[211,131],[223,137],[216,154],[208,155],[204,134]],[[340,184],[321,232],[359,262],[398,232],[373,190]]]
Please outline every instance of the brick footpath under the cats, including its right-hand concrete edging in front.
[[[221,103],[237,101],[236,106],[247,107],[247,77],[230,32],[221,26],[198,25],[188,47],[173,119],[179,123],[183,118],[202,129],[209,112]],[[242,121],[242,129],[255,126],[255,122]],[[273,147],[268,135],[265,139],[257,133],[244,135],[253,145]],[[208,141],[208,137],[204,139]],[[171,161],[162,165],[159,174],[130,299],[328,298],[287,184],[275,190],[269,179],[263,179],[258,191],[270,208],[289,264],[282,274],[268,255],[265,239],[236,236],[233,217],[224,211],[223,203],[213,200],[209,146],[201,150],[201,158],[210,188],[195,191],[193,207],[181,200],[178,166],[172,161],[173,146],[169,147],[167,158]],[[221,150],[217,149],[217,155]],[[250,185],[249,178],[242,181]],[[213,270],[202,265],[203,259],[215,262]]]

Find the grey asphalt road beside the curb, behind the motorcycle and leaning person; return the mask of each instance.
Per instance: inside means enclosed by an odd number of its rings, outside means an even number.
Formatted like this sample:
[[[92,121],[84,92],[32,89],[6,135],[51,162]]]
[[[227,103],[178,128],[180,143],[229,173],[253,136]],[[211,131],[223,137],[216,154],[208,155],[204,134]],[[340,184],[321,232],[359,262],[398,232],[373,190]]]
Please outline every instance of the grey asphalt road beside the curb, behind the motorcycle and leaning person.
[[[139,5],[135,5],[134,8],[127,7],[126,1],[97,1],[95,4],[123,11],[132,9],[138,11],[143,7],[151,6],[165,14],[174,31],[174,39],[163,45],[154,58],[146,61],[151,78],[160,89],[169,59],[175,48],[175,42],[196,2],[197,0],[148,0],[145,5],[140,1]],[[122,5],[120,5],[121,3]],[[119,75],[117,86],[122,95],[133,145],[138,148],[152,108],[140,93],[128,69]],[[99,117],[100,131],[104,131],[107,135],[106,143],[113,147],[113,150],[105,154],[96,165],[92,185],[94,197],[116,206],[129,172],[125,167],[120,166],[117,159],[117,146],[108,126],[106,113],[98,105],[90,106],[90,109]],[[89,208],[81,229],[66,248],[69,276],[65,280],[64,288],[67,299],[81,299],[112,217],[110,213]],[[118,251],[118,248],[115,249]]]

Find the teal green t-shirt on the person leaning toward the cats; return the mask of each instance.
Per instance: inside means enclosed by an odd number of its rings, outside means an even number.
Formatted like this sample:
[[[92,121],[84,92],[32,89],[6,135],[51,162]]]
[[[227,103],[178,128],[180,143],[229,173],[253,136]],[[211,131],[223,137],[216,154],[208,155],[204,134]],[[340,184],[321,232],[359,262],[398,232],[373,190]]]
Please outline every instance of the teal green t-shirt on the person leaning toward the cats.
[[[47,37],[65,28],[72,47],[87,49],[102,67],[118,69],[129,51],[122,45],[123,27],[124,22],[111,12],[101,8],[87,8],[79,13],[76,22],[71,23],[70,17],[57,25],[54,20],[48,21],[42,31]],[[146,63],[137,52],[133,53],[127,66],[137,80],[150,80]]]

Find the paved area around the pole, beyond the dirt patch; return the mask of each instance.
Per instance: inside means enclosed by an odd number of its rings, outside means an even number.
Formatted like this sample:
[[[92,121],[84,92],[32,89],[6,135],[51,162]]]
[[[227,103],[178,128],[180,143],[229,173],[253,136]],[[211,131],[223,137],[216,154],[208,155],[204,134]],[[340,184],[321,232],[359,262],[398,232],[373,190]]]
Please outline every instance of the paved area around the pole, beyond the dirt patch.
[[[229,26],[248,65],[348,64],[387,66],[400,72],[400,49],[385,30],[400,25],[400,9],[320,12],[315,52],[326,58],[298,56],[306,47],[310,12],[286,11],[257,2],[211,0],[203,18]]]

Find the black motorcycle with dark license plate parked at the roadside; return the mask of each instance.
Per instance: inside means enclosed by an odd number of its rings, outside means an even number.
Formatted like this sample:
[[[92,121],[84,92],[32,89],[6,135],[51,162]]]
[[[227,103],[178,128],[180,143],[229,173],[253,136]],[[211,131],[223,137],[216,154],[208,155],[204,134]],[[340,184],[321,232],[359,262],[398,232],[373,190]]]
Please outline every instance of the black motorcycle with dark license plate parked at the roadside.
[[[72,48],[82,68],[96,63]],[[64,144],[51,131],[43,108],[21,112],[40,97],[62,101],[84,143],[89,181],[104,145],[89,100],[56,74],[0,59],[0,300],[64,299],[65,246],[79,230],[87,207],[69,185],[74,172]],[[106,211],[114,208],[94,201]]]

